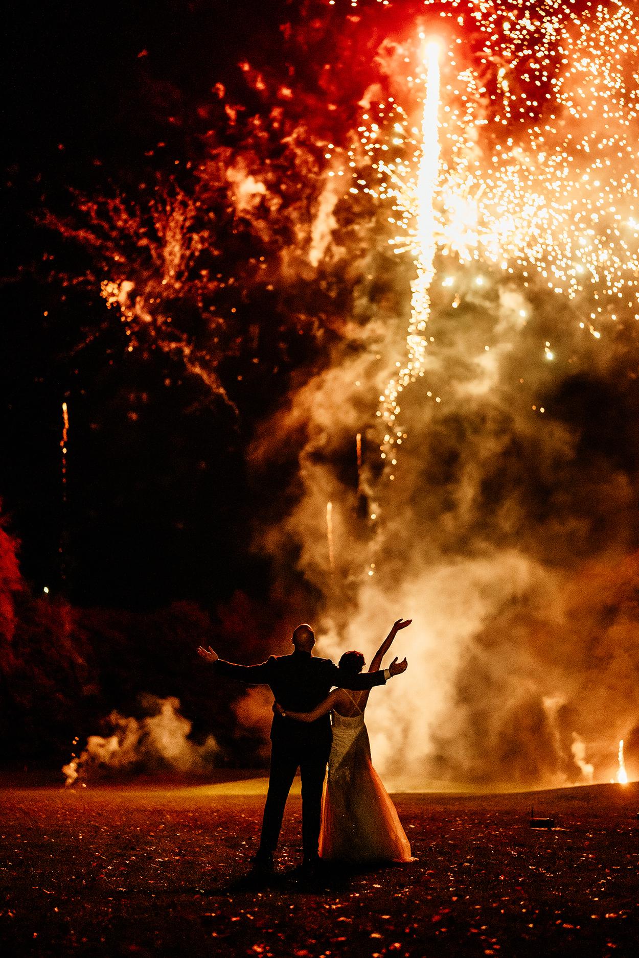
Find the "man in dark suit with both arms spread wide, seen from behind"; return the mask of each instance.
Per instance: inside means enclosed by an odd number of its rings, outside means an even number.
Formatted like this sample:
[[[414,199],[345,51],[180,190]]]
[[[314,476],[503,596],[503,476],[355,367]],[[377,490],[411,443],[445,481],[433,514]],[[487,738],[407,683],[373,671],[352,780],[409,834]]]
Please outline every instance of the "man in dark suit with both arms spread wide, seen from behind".
[[[346,675],[331,662],[312,654],[313,630],[306,623],[294,629],[293,651],[289,655],[271,655],[262,665],[234,665],[224,662],[211,649],[197,650],[211,662],[218,675],[239,678],[252,685],[268,685],[284,709],[310,712],[329,695],[332,686],[361,691],[383,685],[392,675],[407,668],[406,660],[393,659],[383,672]],[[267,876],[273,872],[286,798],[297,769],[302,778],[303,871],[311,876],[318,862],[318,842],[322,806],[322,786],[331,752],[331,719],[327,714],[313,722],[287,720],[274,715],[271,725],[271,767],[268,793],[262,820],[260,848],[253,869]]]

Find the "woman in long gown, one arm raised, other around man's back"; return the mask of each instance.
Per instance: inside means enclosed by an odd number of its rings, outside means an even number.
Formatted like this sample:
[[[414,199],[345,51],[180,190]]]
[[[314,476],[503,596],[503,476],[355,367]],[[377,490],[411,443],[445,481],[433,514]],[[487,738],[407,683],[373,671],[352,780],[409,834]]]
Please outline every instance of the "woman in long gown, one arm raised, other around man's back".
[[[398,619],[369,666],[377,672],[399,629],[411,619]],[[361,652],[345,652],[339,668],[351,675],[364,665]],[[410,844],[398,813],[371,764],[371,746],[364,724],[369,693],[335,689],[312,712],[289,712],[274,706],[279,715],[297,721],[315,721],[327,712],[332,719],[329,776],[322,800],[319,854],[324,859],[348,862],[413,861]]]

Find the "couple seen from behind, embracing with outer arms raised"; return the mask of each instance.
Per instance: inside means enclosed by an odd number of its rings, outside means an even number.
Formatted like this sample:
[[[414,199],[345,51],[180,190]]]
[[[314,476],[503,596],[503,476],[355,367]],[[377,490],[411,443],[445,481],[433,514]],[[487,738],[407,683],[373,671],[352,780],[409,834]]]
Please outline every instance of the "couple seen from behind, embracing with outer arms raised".
[[[378,671],[399,629],[398,619],[377,650],[368,673],[361,652],[345,652],[335,666],[312,654],[310,626],[298,626],[289,655],[271,655],[262,665],[224,662],[209,647],[197,650],[217,674],[253,685],[268,685],[275,696],[271,727],[271,767],[260,848],[253,870],[274,870],[286,798],[297,769],[302,778],[303,873],[312,877],[322,860],[345,862],[411,861],[410,845],[386,789],[371,764],[364,724],[369,692],[405,672],[406,660],[393,659]],[[337,688],[331,692],[331,688]],[[332,720],[331,720],[332,719]],[[322,787],[329,777],[322,802]]]

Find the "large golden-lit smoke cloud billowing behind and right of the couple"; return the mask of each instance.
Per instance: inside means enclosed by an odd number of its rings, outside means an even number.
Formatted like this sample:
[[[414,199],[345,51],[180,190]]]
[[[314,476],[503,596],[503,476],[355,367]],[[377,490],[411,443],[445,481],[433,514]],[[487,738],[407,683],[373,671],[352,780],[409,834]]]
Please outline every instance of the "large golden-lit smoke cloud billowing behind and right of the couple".
[[[269,423],[257,461],[269,435],[300,420],[308,440],[303,492],[262,541],[274,555],[299,543],[325,596],[322,652],[370,659],[396,618],[413,618],[394,650],[409,671],[368,708],[375,761],[396,787],[607,780],[617,741],[637,736],[636,473],[624,437],[606,442],[604,413],[580,406],[588,392],[608,408],[628,401],[625,347],[599,343],[595,355],[558,327],[548,294],[531,303],[491,278],[480,297],[472,280],[459,276],[454,314],[433,311],[438,345],[428,381],[403,397],[393,480],[376,473],[370,418],[371,380],[378,388],[401,354],[392,324],[383,339],[377,320],[358,328]],[[356,432],[368,446],[358,479]]]

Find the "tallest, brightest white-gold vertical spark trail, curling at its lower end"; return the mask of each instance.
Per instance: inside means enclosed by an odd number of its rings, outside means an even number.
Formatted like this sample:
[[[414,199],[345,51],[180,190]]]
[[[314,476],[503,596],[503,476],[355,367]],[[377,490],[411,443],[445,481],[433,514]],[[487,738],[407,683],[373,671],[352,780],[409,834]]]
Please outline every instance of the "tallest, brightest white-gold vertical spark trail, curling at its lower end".
[[[423,39],[423,34],[421,34]],[[425,71],[426,94],[422,107],[422,147],[415,187],[415,244],[417,275],[411,283],[411,313],[406,333],[406,361],[399,373],[392,378],[381,398],[382,417],[387,427],[387,439],[380,446],[382,458],[386,458],[396,440],[401,438],[397,417],[400,409],[399,393],[404,386],[423,376],[426,354],[425,329],[430,314],[430,285],[434,276],[435,261],[435,209],[434,197],[439,172],[438,106],[440,100],[439,45],[430,40],[422,55]],[[398,364],[399,365],[399,364]],[[392,478],[392,476],[391,476]]]

